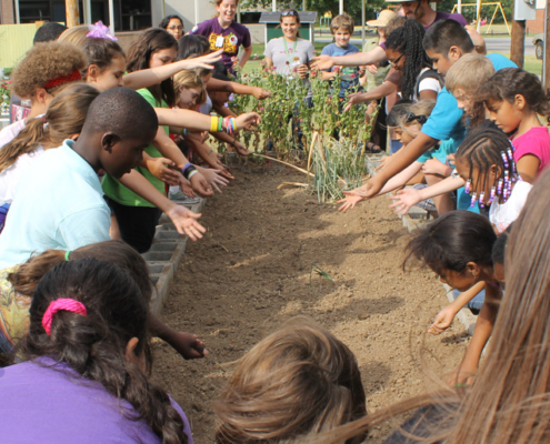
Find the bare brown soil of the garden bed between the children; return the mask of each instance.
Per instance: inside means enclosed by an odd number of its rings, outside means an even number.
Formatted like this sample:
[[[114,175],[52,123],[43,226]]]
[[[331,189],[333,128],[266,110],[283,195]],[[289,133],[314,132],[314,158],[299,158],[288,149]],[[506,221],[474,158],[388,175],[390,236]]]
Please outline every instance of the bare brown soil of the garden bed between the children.
[[[410,234],[386,199],[341,214],[303,189],[277,189],[303,182],[299,173],[264,165],[236,176],[204,208],[208,233],[188,243],[163,309],[164,322],[198,334],[210,354],[186,362],[154,346],[156,377],[186,411],[197,443],[213,443],[212,403],[231,374],[224,364],[299,314],[353,351],[369,412],[421,393],[433,384],[428,373],[459,364],[468,336],[458,321],[440,336],[426,334],[447,299],[429,270],[402,271]],[[311,274],[312,264],[333,282]]]

